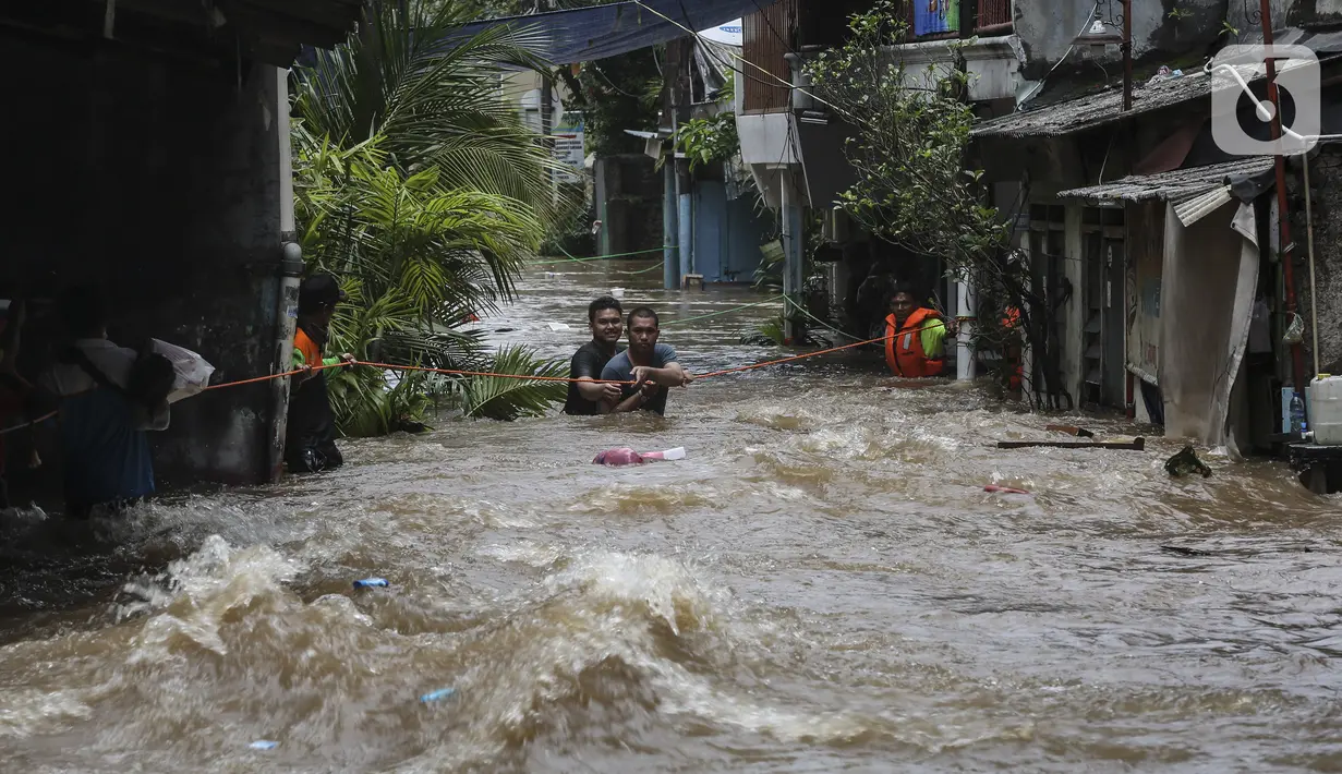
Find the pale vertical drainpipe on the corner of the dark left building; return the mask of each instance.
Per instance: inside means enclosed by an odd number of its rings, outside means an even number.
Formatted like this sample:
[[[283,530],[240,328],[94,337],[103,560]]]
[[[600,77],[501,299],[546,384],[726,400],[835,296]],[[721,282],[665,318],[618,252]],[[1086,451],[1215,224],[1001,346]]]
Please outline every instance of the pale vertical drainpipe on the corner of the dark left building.
[[[275,360],[271,373],[290,370],[294,361],[294,333],[298,325],[298,284],[303,276],[303,248],[298,245],[294,225],[294,166],[289,137],[289,71],[275,68],[275,133],[279,144],[279,292],[275,305]],[[285,436],[289,431],[289,378],[270,382],[271,420],[270,453],[267,464],[270,480],[278,482],[285,472]]]

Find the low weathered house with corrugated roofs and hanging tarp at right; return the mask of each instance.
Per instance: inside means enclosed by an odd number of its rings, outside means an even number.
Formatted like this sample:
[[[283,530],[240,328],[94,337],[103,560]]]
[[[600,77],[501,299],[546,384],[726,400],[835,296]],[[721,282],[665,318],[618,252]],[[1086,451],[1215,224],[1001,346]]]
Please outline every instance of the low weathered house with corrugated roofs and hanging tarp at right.
[[[1235,27],[1259,17],[1232,11],[1204,19],[1188,51],[1172,52],[1170,72],[1139,62],[1130,109],[1113,86],[1070,97],[1075,85],[1064,83],[1062,98],[1044,89],[1032,110],[974,130],[976,158],[990,180],[1027,186],[1021,248],[1043,282],[1075,288],[1056,321],[1067,396],[1126,408],[1177,437],[1266,452],[1284,437],[1283,388],[1302,381],[1282,339],[1292,303],[1308,317],[1304,197],[1287,203],[1294,250],[1283,251],[1272,157],[1237,156],[1215,138],[1217,121],[1270,138],[1247,99],[1216,113],[1213,91],[1267,97],[1261,68],[1236,68],[1245,86],[1212,68],[1221,44],[1261,40],[1260,30]],[[1291,5],[1290,17],[1300,13]],[[1325,134],[1337,131],[1339,40],[1322,21],[1275,38],[1322,60]],[[1288,164],[1288,189],[1299,169]]]

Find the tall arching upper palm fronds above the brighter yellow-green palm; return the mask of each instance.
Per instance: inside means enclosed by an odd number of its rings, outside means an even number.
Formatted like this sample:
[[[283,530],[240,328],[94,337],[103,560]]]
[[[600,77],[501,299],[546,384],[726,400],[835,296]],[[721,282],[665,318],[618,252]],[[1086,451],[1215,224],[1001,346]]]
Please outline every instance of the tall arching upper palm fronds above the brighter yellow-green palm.
[[[345,46],[295,68],[294,115],[307,130],[352,146],[374,135],[396,164],[436,166],[448,188],[509,196],[538,212],[553,207],[546,170],[557,169],[498,91],[505,70],[546,70],[530,28],[495,27],[462,38],[456,3],[365,5]]]

